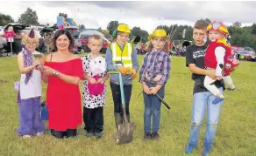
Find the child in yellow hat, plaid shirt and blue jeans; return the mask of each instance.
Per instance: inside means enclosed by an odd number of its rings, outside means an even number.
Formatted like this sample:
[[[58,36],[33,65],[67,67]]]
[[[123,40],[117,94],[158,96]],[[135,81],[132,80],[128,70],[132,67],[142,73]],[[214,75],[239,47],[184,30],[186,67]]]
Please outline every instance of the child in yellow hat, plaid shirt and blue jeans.
[[[159,140],[160,99],[164,98],[165,85],[170,78],[171,60],[168,55],[167,32],[154,30],[150,35],[148,53],[139,72],[139,82],[143,86],[144,111],[144,139]],[[151,118],[153,116],[153,130],[151,132]]]

